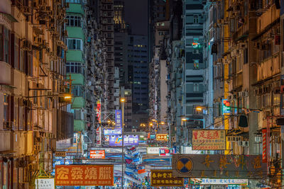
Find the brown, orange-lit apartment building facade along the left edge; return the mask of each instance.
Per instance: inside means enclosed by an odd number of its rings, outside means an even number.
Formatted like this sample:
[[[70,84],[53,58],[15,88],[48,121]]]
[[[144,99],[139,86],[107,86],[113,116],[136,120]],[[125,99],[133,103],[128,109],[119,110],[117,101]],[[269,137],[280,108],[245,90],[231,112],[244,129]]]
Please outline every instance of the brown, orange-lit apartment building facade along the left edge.
[[[58,6],[60,5],[60,6]],[[34,188],[52,172],[56,142],[72,144],[72,81],[65,76],[66,6],[0,2],[1,188]],[[2,182],[3,181],[3,182]]]

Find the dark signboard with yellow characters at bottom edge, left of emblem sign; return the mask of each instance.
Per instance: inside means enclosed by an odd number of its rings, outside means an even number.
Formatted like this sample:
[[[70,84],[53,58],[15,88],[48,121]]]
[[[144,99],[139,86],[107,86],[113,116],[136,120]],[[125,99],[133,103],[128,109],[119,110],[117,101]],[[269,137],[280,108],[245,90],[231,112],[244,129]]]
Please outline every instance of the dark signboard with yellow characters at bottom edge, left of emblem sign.
[[[183,186],[183,178],[173,177],[173,170],[151,170],[151,186]]]

